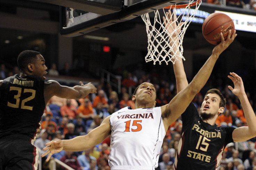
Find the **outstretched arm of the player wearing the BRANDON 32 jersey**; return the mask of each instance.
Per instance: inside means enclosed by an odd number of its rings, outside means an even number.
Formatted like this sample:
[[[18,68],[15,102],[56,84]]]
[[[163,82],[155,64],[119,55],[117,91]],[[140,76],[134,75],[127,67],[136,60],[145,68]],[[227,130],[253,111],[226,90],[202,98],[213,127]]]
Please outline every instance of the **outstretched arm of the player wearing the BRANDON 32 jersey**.
[[[46,103],[52,96],[58,96],[60,98],[67,99],[80,99],[84,98],[90,93],[97,92],[97,88],[92,83],[83,84],[80,81],[81,86],[62,86],[55,80],[49,80],[45,82],[45,101]]]

